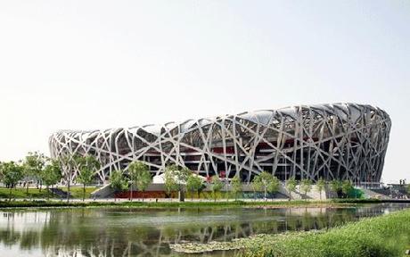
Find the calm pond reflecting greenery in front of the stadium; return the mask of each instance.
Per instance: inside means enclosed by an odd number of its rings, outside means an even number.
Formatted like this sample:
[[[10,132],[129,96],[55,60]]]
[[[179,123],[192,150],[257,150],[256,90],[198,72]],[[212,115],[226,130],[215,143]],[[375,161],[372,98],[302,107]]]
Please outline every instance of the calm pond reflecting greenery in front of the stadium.
[[[169,245],[330,228],[408,207],[0,210],[0,256],[183,256]]]

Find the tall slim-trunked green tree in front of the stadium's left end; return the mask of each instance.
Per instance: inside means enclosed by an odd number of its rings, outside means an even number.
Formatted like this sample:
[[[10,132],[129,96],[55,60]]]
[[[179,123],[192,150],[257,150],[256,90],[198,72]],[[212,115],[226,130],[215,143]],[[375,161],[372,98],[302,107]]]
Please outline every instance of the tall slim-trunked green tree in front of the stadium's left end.
[[[93,182],[94,174],[100,169],[100,162],[92,155],[77,156],[75,159],[78,166],[77,181],[83,184],[83,202],[86,199],[86,185]]]

